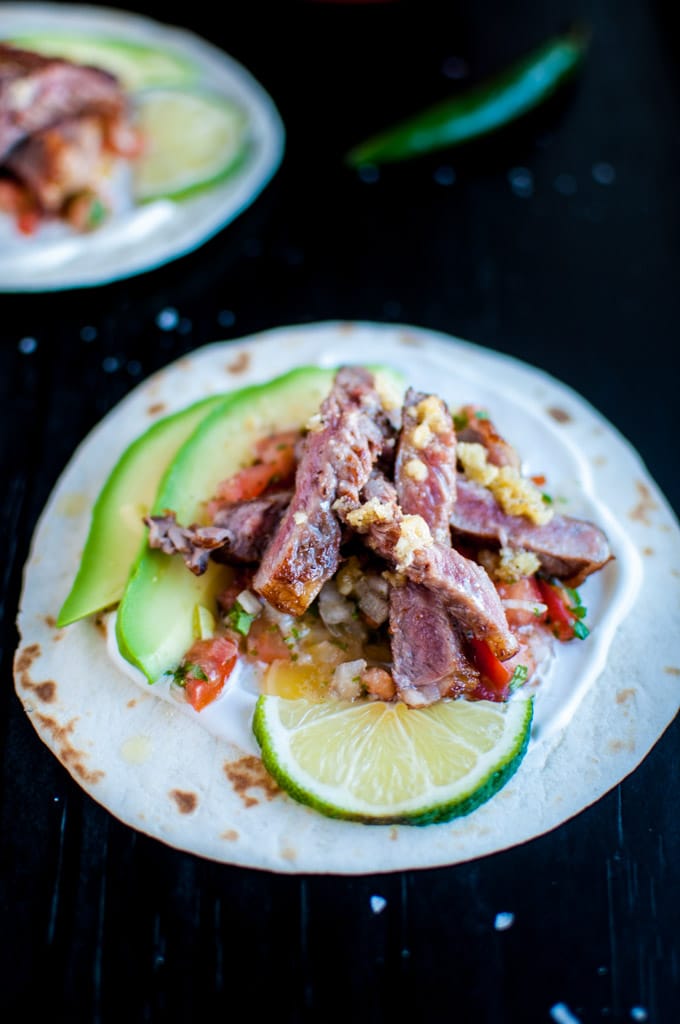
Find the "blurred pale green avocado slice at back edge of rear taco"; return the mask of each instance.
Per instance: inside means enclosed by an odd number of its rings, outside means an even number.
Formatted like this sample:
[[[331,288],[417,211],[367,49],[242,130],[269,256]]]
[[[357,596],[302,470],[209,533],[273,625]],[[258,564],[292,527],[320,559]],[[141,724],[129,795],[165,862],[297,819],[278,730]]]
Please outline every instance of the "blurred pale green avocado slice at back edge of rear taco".
[[[125,39],[40,32],[11,42],[46,56],[101,68],[116,75],[130,92],[156,85],[185,85],[198,77],[198,69],[186,57]]]

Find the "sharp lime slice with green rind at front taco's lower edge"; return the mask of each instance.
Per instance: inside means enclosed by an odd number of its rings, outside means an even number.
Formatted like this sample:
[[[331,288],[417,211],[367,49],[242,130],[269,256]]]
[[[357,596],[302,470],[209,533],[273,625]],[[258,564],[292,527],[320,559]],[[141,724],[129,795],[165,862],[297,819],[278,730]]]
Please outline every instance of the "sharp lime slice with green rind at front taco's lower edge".
[[[282,788],[330,817],[450,821],[484,803],[526,751],[533,698],[314,702],[263,695],[253,731]]]

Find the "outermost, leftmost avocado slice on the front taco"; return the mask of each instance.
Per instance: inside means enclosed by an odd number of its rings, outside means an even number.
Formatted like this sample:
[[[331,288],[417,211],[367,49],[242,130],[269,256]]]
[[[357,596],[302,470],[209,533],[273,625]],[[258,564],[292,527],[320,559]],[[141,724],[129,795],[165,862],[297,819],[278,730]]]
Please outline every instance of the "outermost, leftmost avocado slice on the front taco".
[[[211,395],[158,420],[120,457],[94,508],[78,574],[56,624],[69,626],[112,607],[123,596],[163,473],[179,446],[224,394]]]

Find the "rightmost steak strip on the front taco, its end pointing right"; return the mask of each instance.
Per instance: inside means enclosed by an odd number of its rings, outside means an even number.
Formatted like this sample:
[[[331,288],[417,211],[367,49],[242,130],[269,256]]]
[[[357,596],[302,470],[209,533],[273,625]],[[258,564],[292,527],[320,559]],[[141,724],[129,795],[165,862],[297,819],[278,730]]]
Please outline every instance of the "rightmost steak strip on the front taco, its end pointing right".
[[[457,493],[451,525],[465,544],[532,551],[544,572],[570,587],[579,587],[612,557],[605,535],[585,519],[555,513],[539,526],[525,516],[508,515],[486,487],[463,475],[458,477]]]

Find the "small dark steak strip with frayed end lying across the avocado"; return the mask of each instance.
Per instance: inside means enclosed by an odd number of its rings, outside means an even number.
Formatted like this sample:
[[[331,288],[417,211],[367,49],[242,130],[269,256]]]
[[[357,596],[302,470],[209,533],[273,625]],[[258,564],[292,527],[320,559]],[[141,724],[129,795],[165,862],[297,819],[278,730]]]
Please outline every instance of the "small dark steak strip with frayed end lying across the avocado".
[[[290,490],[263,495],[224,505],[210,526],[180,526],[174,512],[146,516],[148,545],[166,555],[181,555],[195,575],[208,568],[208,559],[226,565],[250,565],[262,557],[289,502]]]

